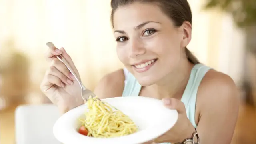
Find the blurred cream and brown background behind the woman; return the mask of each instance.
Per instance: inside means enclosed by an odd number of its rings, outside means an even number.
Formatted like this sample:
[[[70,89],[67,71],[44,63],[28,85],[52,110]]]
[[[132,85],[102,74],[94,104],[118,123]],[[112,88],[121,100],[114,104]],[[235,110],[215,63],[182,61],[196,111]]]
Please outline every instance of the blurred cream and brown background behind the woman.
[[[255,144],[255,0],[188,0],[198,59],[231,76],[240,89],[232,144]],[[64,47],[93,90],[122,68],[110,23],[110,0],[0,0],[1,144],[14,144],[14,112],[50,101],[40,92],[46,42]]]

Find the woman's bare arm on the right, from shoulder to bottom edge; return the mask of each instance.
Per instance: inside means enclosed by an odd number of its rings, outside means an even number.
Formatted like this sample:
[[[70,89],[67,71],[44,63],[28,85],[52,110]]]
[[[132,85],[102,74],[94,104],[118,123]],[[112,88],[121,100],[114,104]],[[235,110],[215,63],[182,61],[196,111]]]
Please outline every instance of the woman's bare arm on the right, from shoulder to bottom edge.
[[[201,144],[230,144],[238,117],[238,89],[233,80],[209,71],[198,89],[197,131]]]

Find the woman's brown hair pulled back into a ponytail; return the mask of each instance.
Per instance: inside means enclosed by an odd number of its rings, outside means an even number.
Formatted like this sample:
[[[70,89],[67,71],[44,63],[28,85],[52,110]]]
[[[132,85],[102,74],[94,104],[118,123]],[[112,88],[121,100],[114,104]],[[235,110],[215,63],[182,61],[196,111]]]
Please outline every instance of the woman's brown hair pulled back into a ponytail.
[[[132,4],[133,2],[144,2],[144,3],[155,3],[157,4],[161,10],[167,14],[173,21],[175,26],[181,26],[185,21],[188,21],[192,24],[192,13],[190,10],[190,6],[187,0],[111,0],[111,21],[113,25],[113,16],[116,9],[119,6],[125,6],[128,4]],[[192,64],[200,63],[196,56],[185,47],[185,53],[188,60]]]

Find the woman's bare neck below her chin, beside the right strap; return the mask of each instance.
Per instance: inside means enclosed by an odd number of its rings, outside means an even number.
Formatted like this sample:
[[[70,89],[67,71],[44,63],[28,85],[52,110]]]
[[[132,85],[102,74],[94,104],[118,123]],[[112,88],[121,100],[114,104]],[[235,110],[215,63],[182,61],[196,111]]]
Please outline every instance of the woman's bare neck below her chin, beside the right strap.
[[[188,60],[178,64],[174,71],[150,86],[150,89],[158,99],[165,97],[181,99],[193,66],[194,64],[191,64]]]

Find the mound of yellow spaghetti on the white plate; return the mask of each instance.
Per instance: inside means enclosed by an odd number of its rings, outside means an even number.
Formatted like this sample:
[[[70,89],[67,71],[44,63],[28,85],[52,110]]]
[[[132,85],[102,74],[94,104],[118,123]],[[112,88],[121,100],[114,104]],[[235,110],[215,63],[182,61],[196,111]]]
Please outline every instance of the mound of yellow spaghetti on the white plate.
[[[87,107],[86,118],[81,120],[82,127],[85,127],[87,133],[80,132],[81,134],[96,138],[111,138],[138,131],[137,126],[128,116],[116,108],[113,110],[110,104],[100,101],[97,97],[90,96]]]

